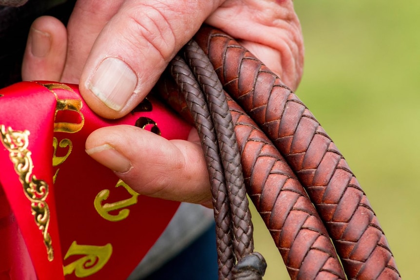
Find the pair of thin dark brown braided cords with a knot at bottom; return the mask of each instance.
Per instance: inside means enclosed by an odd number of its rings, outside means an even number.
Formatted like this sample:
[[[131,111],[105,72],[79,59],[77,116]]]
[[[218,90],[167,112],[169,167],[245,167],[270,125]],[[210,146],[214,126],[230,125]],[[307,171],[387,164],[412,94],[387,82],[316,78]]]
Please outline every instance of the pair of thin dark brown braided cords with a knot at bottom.
[[[185,49],[184,55],[189,61],[193,74],[190,72],[190,67],[179,56],[172,60],[170,69],[180,91],[187,100],[207,156],[215,209],[217,243],[221,246],[221,249],[218,249],[219,279],[262,279],[266,263],[260,254],[252,252],[252,222],[239,148],[226,96],[210,61],[203,59],[205,54],[198,45],[191,41]],[[206,94],[200,91],[195,77]],[[211,117],[209,112],[211,112]],[[217,141],[215,141],[216,138]],[[219,153],[223,168],[218,159]],[[223,184],[223,173],[226,177],[226,186]],[[230,205],[230,212],[229,208],[225,208],[226,204]],[[220,209],[225,211],[220,211]],[[224,221],[226,217],[229,218],[229,215],[231,219],[227,221],[230,220],[231,224]],[[229,231],[231,226],[233,249],[238,260],[234,269],[228,267],[222,260],[227,257],[224,250],[229,246],[226,240],[229,241],[231,238]],[[228,259],[229,266],[231,261]]]

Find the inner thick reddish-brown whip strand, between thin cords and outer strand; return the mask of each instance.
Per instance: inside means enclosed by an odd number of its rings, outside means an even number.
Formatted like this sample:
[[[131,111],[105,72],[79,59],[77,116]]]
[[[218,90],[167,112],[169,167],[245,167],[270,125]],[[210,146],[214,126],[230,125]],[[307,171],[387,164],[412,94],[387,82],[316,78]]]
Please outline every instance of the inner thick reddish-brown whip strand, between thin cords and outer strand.
[[[231,99],[229,109],[249,196],[291,279],[345,279],[324,224],[283,156]]]

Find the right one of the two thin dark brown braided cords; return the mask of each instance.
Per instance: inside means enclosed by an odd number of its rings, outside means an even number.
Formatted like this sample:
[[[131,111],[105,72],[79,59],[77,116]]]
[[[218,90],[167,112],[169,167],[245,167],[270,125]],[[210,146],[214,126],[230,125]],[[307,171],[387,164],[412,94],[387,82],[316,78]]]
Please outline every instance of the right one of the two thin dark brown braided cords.
[[[232,118],[222,84],[214,72],[210,61],[203,59],[204,57],[207,58],[204,52],[195,42],[189,42],[185,47],[184,55],[191,65],[192,72],[206,93],[214,127],[219,132],[217,137],[219,139],[220,156],[225,169],[230,211],[234,213],[232,217],[232,225],[234,227],[233,247],[235,249],[235,257],[239,260],[253,251],[254,244],[251,213],[248,207],[246,189],[242,187],[244,186],[244,177]],[[223,99],[225,102],[221,102],[219,99]]]

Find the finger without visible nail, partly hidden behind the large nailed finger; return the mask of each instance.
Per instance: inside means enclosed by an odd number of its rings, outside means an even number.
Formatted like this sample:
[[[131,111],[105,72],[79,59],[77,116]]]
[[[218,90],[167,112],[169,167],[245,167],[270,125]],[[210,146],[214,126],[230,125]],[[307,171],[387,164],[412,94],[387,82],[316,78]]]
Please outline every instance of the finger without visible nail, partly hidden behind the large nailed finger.
[[[62,82],[79,83],[86,59],[96,37],[115,15],[123,0],[79,0],[67,24],[67,61]]]

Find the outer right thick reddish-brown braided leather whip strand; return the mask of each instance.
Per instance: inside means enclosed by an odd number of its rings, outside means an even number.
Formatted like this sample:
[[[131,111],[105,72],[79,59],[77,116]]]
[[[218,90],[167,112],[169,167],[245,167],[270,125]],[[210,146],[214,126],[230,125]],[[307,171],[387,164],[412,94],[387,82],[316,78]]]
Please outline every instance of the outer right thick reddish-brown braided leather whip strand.
[[[196,40],[227,92],[297,174],[334,242],[348,279],[401,279],[366,195],[312,113],[279,77],[231,37],[205,27]]]

